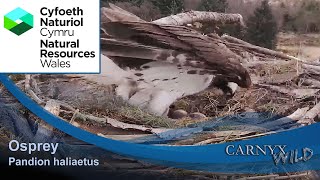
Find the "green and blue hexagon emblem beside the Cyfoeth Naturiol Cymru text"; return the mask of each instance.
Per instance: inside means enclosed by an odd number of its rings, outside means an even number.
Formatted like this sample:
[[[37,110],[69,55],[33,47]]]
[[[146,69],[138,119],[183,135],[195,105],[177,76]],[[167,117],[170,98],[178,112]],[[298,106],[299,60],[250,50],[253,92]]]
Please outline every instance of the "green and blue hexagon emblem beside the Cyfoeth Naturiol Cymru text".
[[[4,16],[4,27],[20,36],[33,28],[33,15],[18,7]]]

